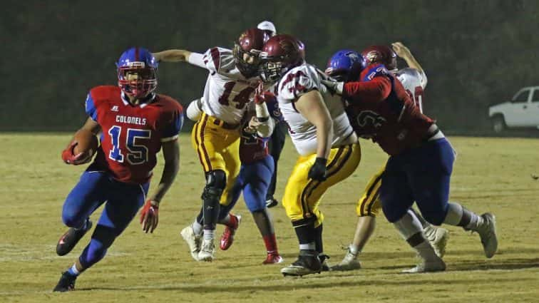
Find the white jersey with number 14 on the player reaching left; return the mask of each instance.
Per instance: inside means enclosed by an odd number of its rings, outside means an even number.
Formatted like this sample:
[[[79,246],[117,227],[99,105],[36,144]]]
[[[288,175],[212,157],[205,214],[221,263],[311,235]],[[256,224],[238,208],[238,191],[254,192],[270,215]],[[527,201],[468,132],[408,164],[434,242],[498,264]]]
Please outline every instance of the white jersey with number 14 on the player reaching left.
[[[258,77],[245,78],[236,68],[230,49],[210,48],[202,59],[210,71],[202,96],[202,111],[226,123],[240,123]]]

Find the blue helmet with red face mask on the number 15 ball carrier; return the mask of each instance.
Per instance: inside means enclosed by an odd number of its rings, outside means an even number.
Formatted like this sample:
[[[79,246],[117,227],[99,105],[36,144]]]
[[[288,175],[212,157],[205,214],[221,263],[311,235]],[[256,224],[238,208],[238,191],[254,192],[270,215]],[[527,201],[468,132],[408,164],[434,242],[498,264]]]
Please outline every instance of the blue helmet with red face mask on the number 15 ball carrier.
[[[118,86],[128,96],[144,98],[157,88],[158,61],[146,48],[124,51],[118,62]]]

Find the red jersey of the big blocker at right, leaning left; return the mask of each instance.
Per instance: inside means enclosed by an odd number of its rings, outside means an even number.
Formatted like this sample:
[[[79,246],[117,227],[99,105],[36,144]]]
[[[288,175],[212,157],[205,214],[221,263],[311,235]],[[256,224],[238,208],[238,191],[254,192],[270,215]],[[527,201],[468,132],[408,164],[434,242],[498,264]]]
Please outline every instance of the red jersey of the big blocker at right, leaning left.
[[[345,83],[342,94],[357,135],[371,138],[389,155],[426,139],[434,121],[421,113],[401,82],[383,65],[367,66],[360,79]]]

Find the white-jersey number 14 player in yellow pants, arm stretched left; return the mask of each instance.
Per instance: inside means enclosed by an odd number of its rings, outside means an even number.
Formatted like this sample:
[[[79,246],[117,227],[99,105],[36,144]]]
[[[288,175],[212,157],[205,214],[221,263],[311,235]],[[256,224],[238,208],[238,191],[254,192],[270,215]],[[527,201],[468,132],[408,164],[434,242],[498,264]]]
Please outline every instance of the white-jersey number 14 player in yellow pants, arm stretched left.
[[[232,214],[219,220],[219,209],[230,204],[228,192],[240,173],[239,129],[258,85],[258,57],[267,38],[265,31],[248,29],[237,38],[232,50],[214,47],[205,53],[181,49],[154,53],[160,61],[187,61],[209,71],[201,99],[202,116],[191,134],[206,185],[199,215],[181,232],[195,260],[214,259],[217,222],[227,225],[231,232],[240,223],[240,218]]]

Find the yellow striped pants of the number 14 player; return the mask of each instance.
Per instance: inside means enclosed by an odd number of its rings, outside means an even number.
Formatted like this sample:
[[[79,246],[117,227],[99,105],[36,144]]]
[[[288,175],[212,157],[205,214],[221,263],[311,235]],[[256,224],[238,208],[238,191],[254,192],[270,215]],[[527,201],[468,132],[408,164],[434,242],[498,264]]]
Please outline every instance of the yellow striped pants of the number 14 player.
[[[220,120],[202,113],[193,126],[191,144],[198,154],[204,173],[223,170],[227,175],[227,185],[221,195],[220,204],[229,205],[229,192],[240,173],[240,132],[225,129]]]

